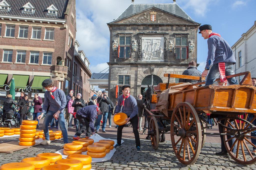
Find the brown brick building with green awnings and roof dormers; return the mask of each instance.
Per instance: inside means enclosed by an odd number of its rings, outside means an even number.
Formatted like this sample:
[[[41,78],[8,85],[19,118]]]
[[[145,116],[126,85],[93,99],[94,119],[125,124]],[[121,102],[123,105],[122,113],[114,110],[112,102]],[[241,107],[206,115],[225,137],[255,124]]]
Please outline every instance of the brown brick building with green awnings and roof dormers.
[[[0,0],[1,1],[1,0]],[[51,78],[68,94],[73,85],[75,0],[0,2],[0,95],[15,79],[16,97],[25,91],[44,97],[41,82]]]

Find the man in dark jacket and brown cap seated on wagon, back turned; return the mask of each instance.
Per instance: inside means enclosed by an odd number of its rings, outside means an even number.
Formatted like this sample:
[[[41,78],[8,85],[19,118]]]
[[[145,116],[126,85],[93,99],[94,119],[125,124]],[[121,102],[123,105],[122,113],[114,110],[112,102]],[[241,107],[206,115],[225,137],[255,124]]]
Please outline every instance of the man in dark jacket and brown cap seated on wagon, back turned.
[[[188,68],[185,70],[182,75],[193,75],[201,77],[201,72],[196,69],[196,62],[190,61],[188,63]],[[199,80],[189,80],[189,79],[179,79],[179,83],[199,83]]]

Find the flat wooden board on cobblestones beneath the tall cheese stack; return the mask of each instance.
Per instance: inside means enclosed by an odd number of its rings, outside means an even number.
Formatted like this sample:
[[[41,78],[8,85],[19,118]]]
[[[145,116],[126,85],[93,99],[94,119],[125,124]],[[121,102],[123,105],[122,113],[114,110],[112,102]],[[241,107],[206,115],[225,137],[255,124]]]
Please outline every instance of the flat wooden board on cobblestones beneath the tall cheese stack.
[[[36,143],[34,146],[40,145],[40,143]],[[33,146],[20,146],[18,141],[10,141],[6,143],[0,143],[0,153],[13,153],[18,150],[30,148]]]

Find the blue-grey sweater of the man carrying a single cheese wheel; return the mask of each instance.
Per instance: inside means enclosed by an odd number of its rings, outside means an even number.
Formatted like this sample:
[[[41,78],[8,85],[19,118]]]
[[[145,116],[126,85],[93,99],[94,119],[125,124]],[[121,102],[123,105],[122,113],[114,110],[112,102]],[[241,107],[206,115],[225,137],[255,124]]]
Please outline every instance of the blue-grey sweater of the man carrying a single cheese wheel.
[[[121,109],[121,103],[123,101],[123,95],[118,97],[118,103],[116,106],[115,113],[119,113]],[[130,116],[132,119],[136,114],[138,114],[138,106],[137,106],[137,101],[133,96],[129,96],[127,99],[124,101],[124,106],[123,106],[123,113],[127,114],[127,116]]]

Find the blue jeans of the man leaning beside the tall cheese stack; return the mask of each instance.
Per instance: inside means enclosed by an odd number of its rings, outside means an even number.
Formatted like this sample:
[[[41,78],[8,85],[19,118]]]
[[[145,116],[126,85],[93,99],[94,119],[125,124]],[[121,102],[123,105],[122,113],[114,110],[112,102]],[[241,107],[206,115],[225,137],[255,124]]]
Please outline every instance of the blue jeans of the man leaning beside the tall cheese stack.
[[[46,140],[50,140],[48,125],[52,121],[52,119],[54,118],[53,115],[55,113],[56,112],[52,112],[52,111],[49,110],[48,113],[45,116],[44,123],[43,123],[43,130],[44,130],[44,133],[45,133],[45,139]],[[63,135],[64,143],[68,143],[68,132],[67,132],[67,129],[65,127],[63,112],[60,112],[59,117],[58,117],[58,122],[60,124],[60,130],[61,130],[62,135]]]

